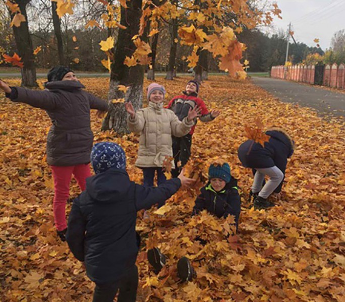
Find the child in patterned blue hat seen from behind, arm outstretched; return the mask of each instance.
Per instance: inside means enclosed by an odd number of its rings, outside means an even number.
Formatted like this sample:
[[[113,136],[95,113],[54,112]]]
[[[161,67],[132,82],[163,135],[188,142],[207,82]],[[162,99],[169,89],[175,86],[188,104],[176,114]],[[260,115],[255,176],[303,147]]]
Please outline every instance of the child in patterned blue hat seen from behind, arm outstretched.
[[[87,178],[86,190],[73,201],[67,242],[96,283],[93,302],[113,301],[118,290],[118,302],[132,302],[138,286],[137,211],[162,206],[194,180],[181,173],[157,188],[137,185],[126,172],[124,150],[109,142],[93,147],[91,163],[96,175]]]

